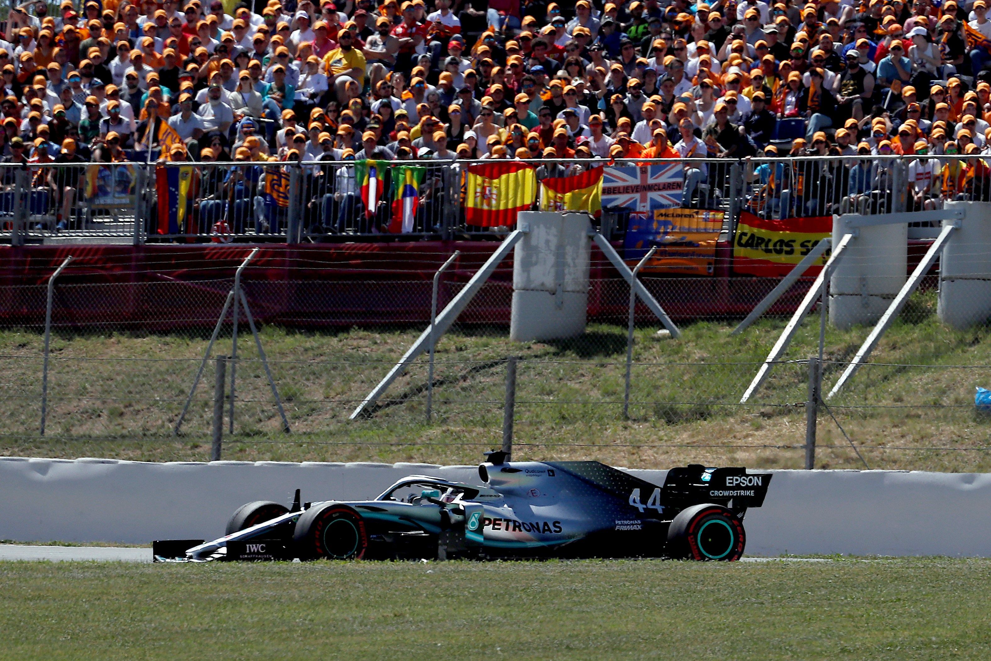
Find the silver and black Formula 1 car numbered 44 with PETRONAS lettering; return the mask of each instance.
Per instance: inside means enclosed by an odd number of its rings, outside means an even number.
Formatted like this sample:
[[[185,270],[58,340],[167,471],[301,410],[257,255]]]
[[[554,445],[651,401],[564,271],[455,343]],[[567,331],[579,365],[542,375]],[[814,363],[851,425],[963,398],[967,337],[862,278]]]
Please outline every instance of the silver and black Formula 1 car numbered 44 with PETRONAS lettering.
[[[488,453],[479,487],[429,476],[372,500],[249,502],[223,537],[164,540],[157,561],[420,558],[737,560],[743,515],[771,475],[743,468],[671,469],[663,486],[593,461],[507,462]]]

